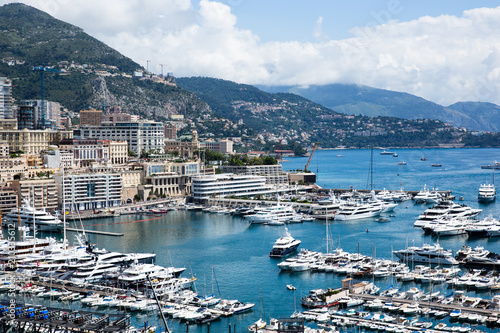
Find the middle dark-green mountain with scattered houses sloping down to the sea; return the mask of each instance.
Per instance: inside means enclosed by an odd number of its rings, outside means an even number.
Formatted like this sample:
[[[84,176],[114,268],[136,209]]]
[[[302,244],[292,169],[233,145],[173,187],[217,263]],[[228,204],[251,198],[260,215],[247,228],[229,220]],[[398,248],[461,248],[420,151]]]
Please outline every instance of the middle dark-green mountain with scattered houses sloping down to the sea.
[[[295,94],[264,92],[221,79],[178,78],[177,83],[221,116],[261,133],[262,139],[318,141],[322,147],[498,145],[496,136],[473,137],[439,120],[346,115]]]

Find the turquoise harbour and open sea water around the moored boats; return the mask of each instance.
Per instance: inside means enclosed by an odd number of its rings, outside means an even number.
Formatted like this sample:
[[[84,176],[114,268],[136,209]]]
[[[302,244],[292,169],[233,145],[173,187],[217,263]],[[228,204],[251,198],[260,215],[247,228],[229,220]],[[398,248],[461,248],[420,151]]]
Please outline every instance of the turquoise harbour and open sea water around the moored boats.
[[[499,203],[480,205],[477,202],[479,185],[492,181],[492,171],[483,170],[481,164],[492,164],[500,160],[500,149],[396,149],[398,157],[373,152],[374,188],[420,190],[438,187],[463,196],[463,203],[483,209],[480,217],[492,214],[500,218]],[[369,183],[370,150],[316,151],[309,169],[317,172],[317,183],[325,188],[367,189]],[[342,156],[337,156],[342,155]],[[425,156],[428,161],[420,161]],[[285,170],[302,169],[307,158],[287,158]],[[398,165],[405,161],[407,165]],[[433,168],[431,163],[442,164]],[[500,178],[500,176],[499,176]],[[329,222],[332,245],[349,252],[359,251],[377,258],[391,258],[391,250],[404,248],[406,244],[422,245],[434,243],[436,238],[424,236],[421,229],[413,228],[413,222],[428,205],[400,204],[395,209],[396,217],[391,222],[378,223],[374,219],[348,222]],[[155,252],[157,263],[186,267],[184,276],[193,274],[197,278],[196,288],[200,293],[212,289],[212,267],[215,273],[214,292],[217,296],[255,303],[252,312],[222,319],[211,325],[211,332],[228,332],[228,325],[236,324],[236,332],[247,332],[248,325],[260,317],[287,317],[297,308],[300,298],[316,288],[336,288],[341,279],[326,273],[297,272],[282,273],[276,266],[280,260],[269,258],[274,241],[282,234],[279,226],[249,226],[239,218],[228,215],[202,212],[173,211],[160,218],[151,215],[128,215],[114,219],[85,221],[89,229],[123,232],[123,237],[90,235],[93,243],[108,250],[122,252]],[[366,232],[366,230],[369,232]],[[301,248],[326,252],[326,222],[315,221],[289,225],[295,238],[302,240]],[[71,235],[71,233],[69,233]],[[500,238],[476,239],[448,237],[439,240],[444,248],[458,250],[463,244],[482,245],[490,251],[500,252]],[[292,292],[286,285],[292,283],[297,290]],[[394,283],[390,279],[376,280],[387,287]],[[413,284],[405,285],[409,288]],[[449,294],[450,290],[443,290]],[[262,297],[261,297],[262,295]],[[489,291],[481,293],[491,298]],[[262,299],[262,301],[261,301]],[[56,305],[57,303],[53,304]],[[261,305],[262,304],[262,305]],[[134,322],[160,321],[155,316],[134,315]],[[176,332],[185,332],[183,324],[168,321]],[[207,332],[206,326],[189,327],[190,332]],[[234,330],[232,331],[234,332]]]

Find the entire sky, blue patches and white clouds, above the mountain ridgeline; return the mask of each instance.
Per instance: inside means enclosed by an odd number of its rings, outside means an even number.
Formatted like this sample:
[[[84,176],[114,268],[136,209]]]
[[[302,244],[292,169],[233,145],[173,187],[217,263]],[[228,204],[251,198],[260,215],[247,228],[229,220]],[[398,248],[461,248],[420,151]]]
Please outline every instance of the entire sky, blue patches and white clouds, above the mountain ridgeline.
[[[0,4],[11,2],[0,0]],[[500,104],[500,3],[25,0],[137,63],[247,84],[360,84]]]

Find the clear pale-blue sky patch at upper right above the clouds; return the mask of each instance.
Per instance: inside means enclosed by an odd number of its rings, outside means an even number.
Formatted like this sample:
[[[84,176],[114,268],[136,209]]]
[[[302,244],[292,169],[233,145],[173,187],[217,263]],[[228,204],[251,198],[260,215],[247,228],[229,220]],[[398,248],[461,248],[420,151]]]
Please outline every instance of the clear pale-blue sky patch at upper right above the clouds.
[[[333,39],[352,37],[355,27],[410,21],[422,16],[461,16],[464,10],[496,7],[498,1],[334,1],[334,0],[223,0],[238,18],[237,27],[249,29],[262,41],[314,41],[313,27],[323,17],[323,30]]]

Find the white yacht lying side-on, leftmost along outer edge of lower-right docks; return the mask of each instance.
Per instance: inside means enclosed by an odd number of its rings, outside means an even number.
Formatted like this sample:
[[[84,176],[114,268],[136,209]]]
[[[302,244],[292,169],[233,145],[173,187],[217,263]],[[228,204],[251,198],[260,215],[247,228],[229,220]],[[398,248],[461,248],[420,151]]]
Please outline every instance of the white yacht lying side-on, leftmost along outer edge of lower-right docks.
[[[422,247],[409,246],[406,249],[393,251],[394,255],[405,262],[423,262],[440,265],[456,265],[451,250],[444,250],[439,244],[424,244]]]

